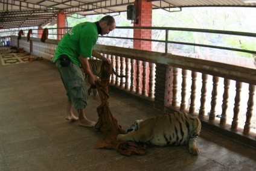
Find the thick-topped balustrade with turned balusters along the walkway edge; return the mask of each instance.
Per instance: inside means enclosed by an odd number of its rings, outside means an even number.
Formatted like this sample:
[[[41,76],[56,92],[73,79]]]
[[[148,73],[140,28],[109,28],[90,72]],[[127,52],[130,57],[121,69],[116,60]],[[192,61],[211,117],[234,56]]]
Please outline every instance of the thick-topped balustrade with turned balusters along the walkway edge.
[[[16,40],[12,37],[11,45],[17,45]],[[36,38],[27,42],[25,37],[19,40],[21,48],[49,61],[57,43],[50,39],[42,43]],[[116,46],[96,45],[95,49],[112,60],[118,74],[126,75],[112,75],[111,89],[142,99],[159,110],[198,115],[205,128],[256,146],[252,128],[255,69]]]

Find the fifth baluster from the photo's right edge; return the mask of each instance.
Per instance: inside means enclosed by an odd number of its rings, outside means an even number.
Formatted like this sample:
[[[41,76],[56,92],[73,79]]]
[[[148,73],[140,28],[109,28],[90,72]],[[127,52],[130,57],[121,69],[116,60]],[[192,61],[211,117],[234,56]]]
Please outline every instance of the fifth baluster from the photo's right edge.
[[[201,99],[200,99],[200,109],[199,109],[199,116],[205,116],[205,101],[206,101],[206,85],[207,85],[208,75],[202,73],[202,89],[201,89]]]

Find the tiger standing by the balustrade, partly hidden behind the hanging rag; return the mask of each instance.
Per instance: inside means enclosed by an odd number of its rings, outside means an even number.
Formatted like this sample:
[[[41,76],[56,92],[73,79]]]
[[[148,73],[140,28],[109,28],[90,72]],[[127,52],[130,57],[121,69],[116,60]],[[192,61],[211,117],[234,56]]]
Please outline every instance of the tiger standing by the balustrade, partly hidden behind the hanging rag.
[[[90,59],[90,60],[88,60],[88,62],[89,62],[89,66],[91,68],[92,74],[95,75],[97,79],[103,78],[104,77],[103,74],[106,73],[105,68],[103,67],[103,64],[107,63],[107,61]],[[125,75],[118,75],[115,72],[113,67],[112,67],[112,73],[114,73],[115,76],[117,76],[119,78],[125,77]],[[86,81],[87,85],[90,85],[86,75],[85,75],[85,81]],[[91,91],[94,96],[97,95],[97,89],[95,87],[90,87],[88,89],[89,94],[91,93]]]

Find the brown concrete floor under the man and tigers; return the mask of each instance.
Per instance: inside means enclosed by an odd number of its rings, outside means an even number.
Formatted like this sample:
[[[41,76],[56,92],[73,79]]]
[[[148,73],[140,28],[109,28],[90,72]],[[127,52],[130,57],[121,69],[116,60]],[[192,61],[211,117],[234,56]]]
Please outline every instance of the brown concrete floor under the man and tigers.
[[[127,129],[135,119],[161,114],[110,90],[110,111]],[[100,97],[90,96],[87,117],[97,121]],[[94,149],[103,135],[65,120],[65,89],[48,61],[0,64],[0,170],[256,170],[256,149],[202,129],[200,154],[187,146],[149,146],[125,157]]]

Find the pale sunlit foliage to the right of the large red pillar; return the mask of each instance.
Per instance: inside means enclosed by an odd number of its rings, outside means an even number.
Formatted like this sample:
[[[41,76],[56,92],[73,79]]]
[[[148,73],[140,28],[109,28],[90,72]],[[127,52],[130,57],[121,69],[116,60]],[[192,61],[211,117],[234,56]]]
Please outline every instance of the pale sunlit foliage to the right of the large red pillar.
[[[255,8],[239,7],[198,7],[182,8],[181,12],[168,12],[165,10],[153,10],[152,26],[181,27],[181,28],[200,28],[208,30],[241,31],[255,33],[256,18]],[[159,31],[162,32],[162,31]],[[152,37],[158,37],[159,40],[165,40],[165,34],[159,34],[157,31]],[[205,45],[225,46],[231,48],[241,48],[255,51],[256,39],[254,37],[225,36],[223,34],[189,33],[169,31],[169,40],[200,43]],[[176,45],[179,51],[187,51],[186,46]],[[157,50],[156,50],[157,51]],[[197,48],[197,53],[208,53],[206,48]],[[228,54],[218,49],[211,52],[216,54],[220,52]],[[252,57],[251,54],[244,52],[235,52],[237,56]]]

